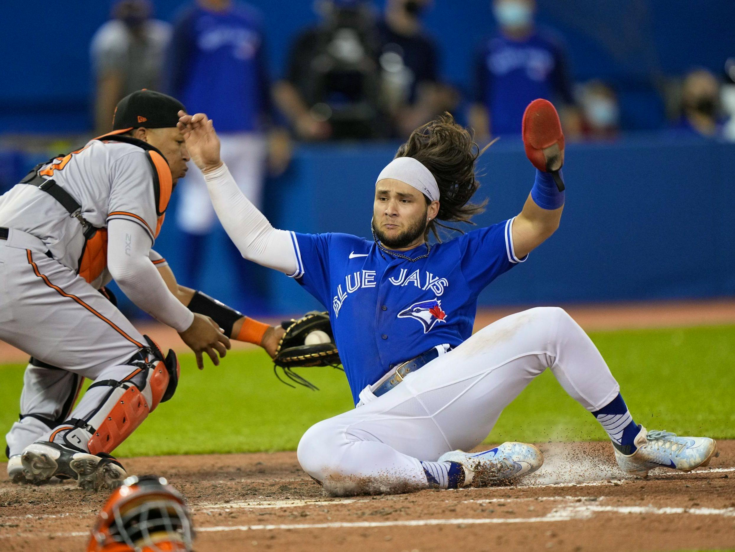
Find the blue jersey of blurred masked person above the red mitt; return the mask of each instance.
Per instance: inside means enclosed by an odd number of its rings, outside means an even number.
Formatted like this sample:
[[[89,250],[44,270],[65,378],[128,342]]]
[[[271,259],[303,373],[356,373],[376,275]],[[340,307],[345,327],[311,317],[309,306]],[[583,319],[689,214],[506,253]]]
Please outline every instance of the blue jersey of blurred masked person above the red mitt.
[[[523,112],[536,98],[573,104],[566,59],[558,40],[538,32],[484,43],[476,57],[475,100],[487,107],[493,135],[520,135]]]

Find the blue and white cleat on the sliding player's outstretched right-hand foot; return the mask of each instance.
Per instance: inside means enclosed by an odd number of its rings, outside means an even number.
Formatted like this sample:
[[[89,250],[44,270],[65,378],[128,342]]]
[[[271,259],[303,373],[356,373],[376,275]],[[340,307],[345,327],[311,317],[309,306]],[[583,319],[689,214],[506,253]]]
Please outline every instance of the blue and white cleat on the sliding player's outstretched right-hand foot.
[[[630,455],[615,448],[617,465],[631,476],[647,477],[654,467],[687,472],[709,465],[712,456],[720,456],[717,442],[709,437],[677,437],[668,431],[646,431],[643,426],[634,444],[637,450]]]

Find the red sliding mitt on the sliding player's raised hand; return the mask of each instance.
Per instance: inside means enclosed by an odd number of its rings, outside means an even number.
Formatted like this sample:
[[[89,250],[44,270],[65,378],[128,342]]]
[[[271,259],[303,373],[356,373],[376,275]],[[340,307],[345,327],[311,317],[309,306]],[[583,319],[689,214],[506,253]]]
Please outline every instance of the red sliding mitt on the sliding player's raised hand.
[[[564,132],[559,114],[551,101],[531,101],[523,112],[523,146],[526,157],[539,171],[551,173],[561,192],[564,182],[559,174],[564,165]]]

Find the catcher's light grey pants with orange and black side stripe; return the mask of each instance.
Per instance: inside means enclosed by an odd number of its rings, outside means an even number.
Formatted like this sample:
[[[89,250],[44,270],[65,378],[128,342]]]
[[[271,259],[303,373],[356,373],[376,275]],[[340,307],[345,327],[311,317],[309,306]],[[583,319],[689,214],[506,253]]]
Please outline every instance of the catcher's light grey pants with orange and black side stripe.
[[[54,370],[32,366],[26,370],[24,417],[7,434],[11,455],[20,454],[29,439],[38,440],[40,430],[40,437],[49,439],[53,428],[39,417],[61,425],[61,417],[84,420],[93,415],[104,404],[109,387],[88,390],[69,414],[73,399],[65,405],[71,393],[76,398],[79,380],[123,381],[135,371],[127,362],[146,346],[143,336],[107,298],[47,257],[37,237],[13,229],[7,240],[0,240],[0,340],[71,374],[55,376]]]

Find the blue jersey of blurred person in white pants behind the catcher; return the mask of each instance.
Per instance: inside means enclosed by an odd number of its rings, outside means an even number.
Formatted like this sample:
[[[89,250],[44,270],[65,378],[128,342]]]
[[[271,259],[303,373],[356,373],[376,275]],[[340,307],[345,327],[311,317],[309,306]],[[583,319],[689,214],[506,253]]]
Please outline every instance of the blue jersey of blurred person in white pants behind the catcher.
[[[262,22],[247,4],[222,11],[196,4],[178,18],[168,51],[168,92],[218,132],[257,132],[270,115]]]

